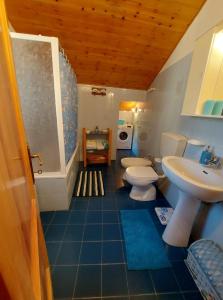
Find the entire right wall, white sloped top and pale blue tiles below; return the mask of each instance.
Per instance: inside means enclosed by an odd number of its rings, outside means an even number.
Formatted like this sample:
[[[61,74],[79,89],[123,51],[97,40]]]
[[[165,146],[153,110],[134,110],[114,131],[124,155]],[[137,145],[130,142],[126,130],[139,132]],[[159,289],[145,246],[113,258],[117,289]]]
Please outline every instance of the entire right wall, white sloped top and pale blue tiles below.
[[[149,150],[159,155],[160,136],[163,131],[173,131],[204,141],[214,146],[216,154],[223,157],[223,121],[181,116],[188,74],[196,38],[223,21],[223,1],[208,0],[190,28],[157,75],[151,86],[157,90],[148,94],[152,107],[153,136]],[[148,129],[149,130],[149,129]],[[187,155],[197,158],[194,150]],[[223,171],[222,171],[223,172]],[[178,189],[166,180],[160,186],[168,201],[175,206]],[[223,245],[223,204],[203,205],[194,226],[196,238],[211,238]]]

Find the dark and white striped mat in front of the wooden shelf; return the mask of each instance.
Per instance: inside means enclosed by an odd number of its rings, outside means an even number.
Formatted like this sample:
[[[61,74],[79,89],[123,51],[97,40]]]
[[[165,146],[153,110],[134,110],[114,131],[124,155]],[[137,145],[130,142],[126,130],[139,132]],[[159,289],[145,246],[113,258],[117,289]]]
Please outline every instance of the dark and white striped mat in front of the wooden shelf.
[[[80,171],[74,190],[75,197],[100,197],[104,194],[101,171]]]

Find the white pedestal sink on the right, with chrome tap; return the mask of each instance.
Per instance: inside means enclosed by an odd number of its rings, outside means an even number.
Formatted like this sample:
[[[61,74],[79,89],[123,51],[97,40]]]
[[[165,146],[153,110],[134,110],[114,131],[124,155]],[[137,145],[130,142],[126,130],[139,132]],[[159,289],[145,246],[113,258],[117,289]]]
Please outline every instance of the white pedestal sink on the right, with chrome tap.
[[[223,200],[223,176],[217,170],[176,156],[164,157],[162,167],[169,180],[180,189],[163,240],[172,246],[186,247],[200,202]]]

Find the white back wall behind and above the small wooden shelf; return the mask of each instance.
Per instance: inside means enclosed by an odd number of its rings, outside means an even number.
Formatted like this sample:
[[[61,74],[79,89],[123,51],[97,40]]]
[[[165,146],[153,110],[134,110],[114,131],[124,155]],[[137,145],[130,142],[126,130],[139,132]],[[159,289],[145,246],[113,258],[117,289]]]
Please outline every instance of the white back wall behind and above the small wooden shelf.
[[[91,85],[78,84],[79,94],[79,139],[82,128],[111,128],[113,132],[112,159],[116,159],[116,136],[119,103],[121,101],[145,101],[146,91],[105,87],[106,96],[91,94]],[[81,143],[80,143],[81,144]]]

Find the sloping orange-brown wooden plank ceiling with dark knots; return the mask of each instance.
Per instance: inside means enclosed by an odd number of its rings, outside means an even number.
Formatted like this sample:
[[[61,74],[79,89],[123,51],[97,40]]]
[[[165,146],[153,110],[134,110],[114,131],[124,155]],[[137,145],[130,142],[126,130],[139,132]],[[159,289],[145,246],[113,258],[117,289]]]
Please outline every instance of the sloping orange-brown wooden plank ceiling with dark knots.
[[[204,0],[5,0],[17,32],[57,36],[79,83],[147,89]]]

